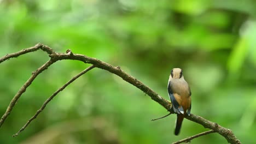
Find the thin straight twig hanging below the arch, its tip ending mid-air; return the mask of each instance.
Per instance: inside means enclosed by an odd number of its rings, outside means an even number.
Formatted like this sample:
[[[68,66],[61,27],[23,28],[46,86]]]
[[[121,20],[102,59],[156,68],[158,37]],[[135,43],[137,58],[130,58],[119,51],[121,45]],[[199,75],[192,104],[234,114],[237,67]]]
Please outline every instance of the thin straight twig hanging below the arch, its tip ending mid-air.
[[[18,131],[18,133],[14,134],[13,137],[17,136],[20,134],[21,131],[23,131],[28,124],[30,124],[34,119],[37,118],[37,116],[39,115],[40,112],[42,112],[45,108],[45,106],[61,91],[63,91],[63,89],[65,89],[70,83],[72,83],[74,80],[78,79],[78,77],[82,76],[83,74],[87,73],[89,70],[95,68],[94,65],[91,65],[90,67],[86,68],[85,70],[81,71],[78,75],[74,76],[71,80],[69,80],[67,83],[65,83],[65,85],[63,85],[62,87],[60,87],[55,93],[53,93],[53,95],[51,95],[51,97],[49,97],[44,104],[40,107],[40,109],[34,114],[33,117],[31,117],[27,123]]]

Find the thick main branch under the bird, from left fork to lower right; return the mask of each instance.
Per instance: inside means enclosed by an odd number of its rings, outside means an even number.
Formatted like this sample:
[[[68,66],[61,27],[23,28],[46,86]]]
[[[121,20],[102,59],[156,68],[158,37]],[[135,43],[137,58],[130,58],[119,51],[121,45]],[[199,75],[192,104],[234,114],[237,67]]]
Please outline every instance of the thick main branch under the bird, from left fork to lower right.
[[[64,55],[62,53],[57,53],[56,55],[57,55],[57,59],[59,59],[59,60],[74,59],[74,60],[82,61],[84,63],[91,63],[91,64],[94,64],[95,67],[97,67],[97,68],[104,69],[104,70],[109,71],[110,73],[118,75],[123,80],[125,80],[125,81],[131,83],[133,86],[136,86],[137,88],[141,89],[141,91],[148,94],[149,97],[151,97],[153,100],[158,102],[160,105],[164,106],[166,110],[173,113],[172,109],[170,109],[171,108],[170,101],[167,101],[164,98],[162,98],[160,95],[155,93],[151,88],[144,85],[141,81],[135,79],[135,77],[132,77],[131,75],[125,73],[125,71],[121,70],[120,67],[114,67],[113,65],[102,62],[102,61],[100,61],[96,58],[91,58],[91,57],[87,57],[87,56],[84,56],[84,55],[75,55],[75,54],[74,55]],[[205,128],[213,129],[214,131],[216,131],[220,135],[224,136],[225,139],[229,143],[238,143],[238,144],[241,143],[236,138],[234,133],[232,133],[231,130],[226,129],[224,127],[221,127],[217,123],[213,123],[211,121],[208,121],[205,118],[202,118],[200,116],[196,116],[196,115],[193,115],[193,114],[190,114],[190,116],[186,116],[185,118],[189,119],[190,121],[199,123],[199,124],[203,125],[203,127],[205,127]]]

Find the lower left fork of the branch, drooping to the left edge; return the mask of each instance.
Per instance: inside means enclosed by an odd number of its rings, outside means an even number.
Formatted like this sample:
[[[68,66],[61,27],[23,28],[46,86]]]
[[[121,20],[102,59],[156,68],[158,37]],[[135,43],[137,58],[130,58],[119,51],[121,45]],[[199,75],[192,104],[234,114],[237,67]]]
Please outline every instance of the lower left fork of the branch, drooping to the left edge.
[[[31,85],[31,83],[33,82],[34,79],[36,79],[36,77],[42,73],[45,69],[47,69],[48,67],[50,67],[51,64],[55,63],[56,61],[54,61],[53,59],[50,59],[48,62],[46,62],[45,64],[43,64],[40,68],[38,68],[36,71],[33,71],[30,79],[28,79],[24,85],[19,89],[19,91],[15,94],[15,96],[13,97],[13,99],[11,99],[9,106],[7,107],[7,110],[5,111],[4,115],[2,116],[2,118],[0,119],[0,127],[2,126],[2,124],[4,123],[5,119],[9,116],[11,110],[13,110],[13,107],[15,106],[16,102],[18,101],[18,99],[20,98],[20,96],[26,91],[27,87]]]

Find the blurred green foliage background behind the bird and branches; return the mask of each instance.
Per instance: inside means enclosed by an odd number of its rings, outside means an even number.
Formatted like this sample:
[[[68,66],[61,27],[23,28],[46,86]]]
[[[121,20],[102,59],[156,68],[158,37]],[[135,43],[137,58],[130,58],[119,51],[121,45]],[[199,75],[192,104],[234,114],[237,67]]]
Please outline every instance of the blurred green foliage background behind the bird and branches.
[[[207,0],[0,1],[0,57],[43,43],[119,65],[168,99],[170,70],[182,68],[191,113],[256,143],[256,2]],[[0,113],[49,57],[42,51],[0,64]],[[69,85],[25,131],[27,120],[65,82],[88,67],[60,61],[40,74],[0,129],[0,143],[172,143],[206,131],[167,111],[118,76],[93,69]],[[210,134],[191,143],[227,143]]]

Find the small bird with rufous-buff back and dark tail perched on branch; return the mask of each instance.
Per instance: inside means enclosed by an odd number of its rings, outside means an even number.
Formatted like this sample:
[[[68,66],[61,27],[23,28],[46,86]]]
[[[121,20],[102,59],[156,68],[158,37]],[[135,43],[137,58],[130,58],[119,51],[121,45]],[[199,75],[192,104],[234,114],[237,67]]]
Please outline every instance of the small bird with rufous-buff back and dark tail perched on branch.
[[[172,101],[172,109],[177,113],[174,134],[178,135],[184,116],[190,115],[191,110],[191,92],[187,81],[184,80],[182,69],[172,69],[168,80],[168,94]]]

